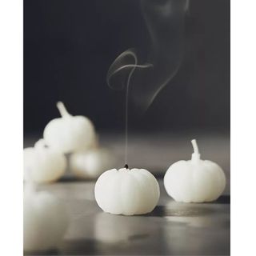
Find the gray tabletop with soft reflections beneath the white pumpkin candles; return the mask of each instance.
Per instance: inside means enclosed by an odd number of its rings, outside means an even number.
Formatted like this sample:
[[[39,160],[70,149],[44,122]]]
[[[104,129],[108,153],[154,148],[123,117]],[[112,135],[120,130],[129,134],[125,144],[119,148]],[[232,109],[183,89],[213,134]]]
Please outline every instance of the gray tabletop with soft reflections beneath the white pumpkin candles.
[[[144,166],[158,177],[161,197],[150,214],[112,215],[102,212],[94,198],[95,181],[78,181],[70,174],[61,181],[39,185],[61,198],[70,214],[70,226],[58,250],[47,255],[228,255],[230,254],[230,141],[226,136],[198,138],[203,158],[218,162],[227,186],[211,203],[174,202],[164,190],[162,176],[172,162],[188,159],[190,135],[145,135],[130,138],[130,165]],[[35,138],[26,138],[24,146]],[[122,165],[123,140],[101,140]],[[38,255],[38,254],[33,254]]]

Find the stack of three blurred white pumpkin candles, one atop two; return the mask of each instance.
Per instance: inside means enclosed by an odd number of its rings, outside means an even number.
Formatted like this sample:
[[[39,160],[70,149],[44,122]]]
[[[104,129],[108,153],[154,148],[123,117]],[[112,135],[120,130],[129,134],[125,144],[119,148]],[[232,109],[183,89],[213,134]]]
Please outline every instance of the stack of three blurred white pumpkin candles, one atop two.
[[[43,139],[24,150],[24,179],[30,172],[34,182],[54,182],[62,177],[67,166],[78,178],[98,178],[113,165],[113,155],[98,146],[89,118],[72,116],[62,102],[58,102],[57,107],[62,117],[51,120]],[[66,154],[70,154],[70,158],[66,158]]]

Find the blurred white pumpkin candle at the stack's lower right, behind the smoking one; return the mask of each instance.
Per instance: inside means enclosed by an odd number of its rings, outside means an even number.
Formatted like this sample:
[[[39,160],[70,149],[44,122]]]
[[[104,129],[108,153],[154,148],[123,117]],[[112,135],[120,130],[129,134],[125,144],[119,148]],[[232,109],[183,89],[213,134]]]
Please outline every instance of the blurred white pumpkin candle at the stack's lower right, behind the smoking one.
[[[80,178],[98,178],[114,166],[114,157],[106,149],[94,148],[70,156],[70,170]]]

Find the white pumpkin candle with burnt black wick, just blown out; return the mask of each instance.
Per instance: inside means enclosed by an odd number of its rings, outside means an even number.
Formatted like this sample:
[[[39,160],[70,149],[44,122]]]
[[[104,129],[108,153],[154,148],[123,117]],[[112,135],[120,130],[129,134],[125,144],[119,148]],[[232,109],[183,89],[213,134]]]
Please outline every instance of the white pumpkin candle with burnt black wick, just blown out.
[[[158,203],[160,191],[154,175],[145,169],[106,170],[95,184],[98,206],[110,214],[147,214]]]

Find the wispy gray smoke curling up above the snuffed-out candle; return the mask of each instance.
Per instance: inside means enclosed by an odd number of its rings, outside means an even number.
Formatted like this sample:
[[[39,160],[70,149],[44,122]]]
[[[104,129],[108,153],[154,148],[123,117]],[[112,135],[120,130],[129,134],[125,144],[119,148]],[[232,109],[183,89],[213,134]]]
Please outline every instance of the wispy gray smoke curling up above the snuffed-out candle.
[[[106,80],[112,89],[126,87],[136,112],[143,114],[181,66],[189,0],[141,0],[140,5],[151,38],[146,61],[138,63],[136,50],[126,50],[110,66]]]

